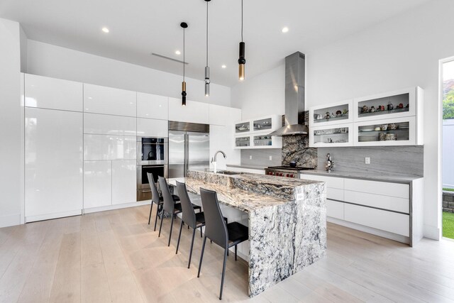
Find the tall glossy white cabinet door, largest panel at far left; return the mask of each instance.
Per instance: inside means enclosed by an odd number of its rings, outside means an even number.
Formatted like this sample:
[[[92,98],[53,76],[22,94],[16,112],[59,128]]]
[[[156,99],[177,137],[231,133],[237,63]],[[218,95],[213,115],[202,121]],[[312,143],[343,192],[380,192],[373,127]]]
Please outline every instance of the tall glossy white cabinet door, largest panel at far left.
[[[26,221],[82,213],[82,113],[26,108]]]

